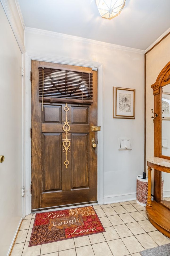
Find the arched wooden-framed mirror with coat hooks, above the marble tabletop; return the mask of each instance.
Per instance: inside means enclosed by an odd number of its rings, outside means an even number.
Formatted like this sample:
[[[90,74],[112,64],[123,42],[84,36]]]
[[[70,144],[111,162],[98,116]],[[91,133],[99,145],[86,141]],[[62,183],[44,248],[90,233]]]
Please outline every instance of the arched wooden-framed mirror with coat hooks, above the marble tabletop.
[[[151,85],[154,94],[154,156],[170,159],[170,62]]]

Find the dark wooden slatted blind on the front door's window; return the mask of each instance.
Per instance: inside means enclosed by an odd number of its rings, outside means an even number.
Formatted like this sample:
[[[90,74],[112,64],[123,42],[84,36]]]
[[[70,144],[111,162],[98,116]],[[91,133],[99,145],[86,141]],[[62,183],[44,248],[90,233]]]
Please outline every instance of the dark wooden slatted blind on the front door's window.
[[[93,74],[39,67],[39,101],[93,103]]]

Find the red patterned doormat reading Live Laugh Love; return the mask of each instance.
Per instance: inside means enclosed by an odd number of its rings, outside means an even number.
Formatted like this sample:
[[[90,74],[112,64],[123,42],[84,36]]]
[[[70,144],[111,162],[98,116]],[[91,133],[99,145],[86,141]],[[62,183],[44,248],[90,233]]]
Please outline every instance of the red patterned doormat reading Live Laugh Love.
[[[93,206],[37,213],[29,246],[105,232]]]

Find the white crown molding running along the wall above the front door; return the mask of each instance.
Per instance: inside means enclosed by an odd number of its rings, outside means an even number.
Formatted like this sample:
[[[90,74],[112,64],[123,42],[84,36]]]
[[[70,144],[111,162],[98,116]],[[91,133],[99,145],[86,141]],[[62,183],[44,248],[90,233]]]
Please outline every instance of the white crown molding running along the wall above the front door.
[[[73,36],[73,35],[61,34],[61,33],[48,31],[48,30],[35,29],[35,28],[31,28],[31,27],[25,27],[25,33],[39,34],[39,35],[44,35],[44,36],[66,39],[66,40],[72,40],[72,41],[76,41],[76,42],[99,45],[99,46],[102,46],[102,47],[108,47],[108,48],[117,49],[117,50],[123,50],[123,51],[128,51],[128,52],[130,51],[130,52],[133,52],[133,53],[145,54],[144,50],[134,49],[134,48],[125,47],[125,46],[121,46],[121,45],[114,45],[112,43],[105,43],[105,42],[96,41],[96,40],[93,40],[93,39],[87,39],[87,38],[83,38],[83,37],[76,37],[76,36]]]

